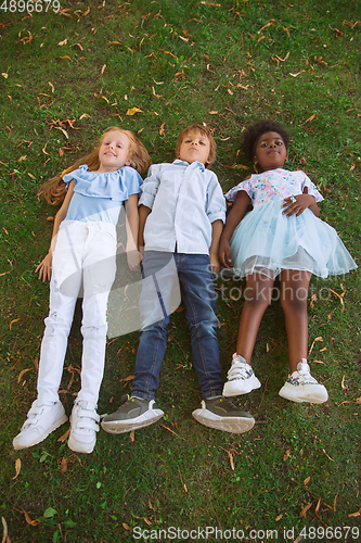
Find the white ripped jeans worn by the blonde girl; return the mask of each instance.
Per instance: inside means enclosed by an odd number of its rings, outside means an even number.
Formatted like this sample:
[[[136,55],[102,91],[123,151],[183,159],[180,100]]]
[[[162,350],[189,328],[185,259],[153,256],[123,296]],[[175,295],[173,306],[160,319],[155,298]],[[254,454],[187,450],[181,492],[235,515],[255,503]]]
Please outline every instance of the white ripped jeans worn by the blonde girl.
[[[116,269],[116,229],[111,223],[63,220],[50,281],[49,316],[41,342],[38,401],[59,401],[67,338],[82,283],[81,389],[78,400],[96,404],[104,372],[106,307]]]

